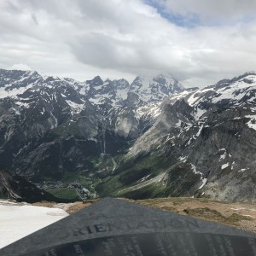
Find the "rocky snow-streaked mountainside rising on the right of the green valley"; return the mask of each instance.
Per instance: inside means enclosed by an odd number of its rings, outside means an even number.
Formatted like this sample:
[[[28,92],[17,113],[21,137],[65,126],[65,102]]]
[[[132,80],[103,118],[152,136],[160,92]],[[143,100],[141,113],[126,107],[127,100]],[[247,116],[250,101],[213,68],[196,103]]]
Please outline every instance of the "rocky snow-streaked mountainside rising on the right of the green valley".
[[[102,195],[256,201],[256,73],[185,90],[131,145]]]

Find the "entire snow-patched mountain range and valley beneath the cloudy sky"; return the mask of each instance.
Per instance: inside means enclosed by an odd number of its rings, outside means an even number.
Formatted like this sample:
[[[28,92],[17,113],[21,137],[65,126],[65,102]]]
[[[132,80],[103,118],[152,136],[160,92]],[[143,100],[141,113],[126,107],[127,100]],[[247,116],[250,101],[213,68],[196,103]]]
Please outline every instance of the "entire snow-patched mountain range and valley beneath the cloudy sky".
[[[256,201],[254,72],[186,89],[0,69],[0,98],[0,165],[40,188]]]

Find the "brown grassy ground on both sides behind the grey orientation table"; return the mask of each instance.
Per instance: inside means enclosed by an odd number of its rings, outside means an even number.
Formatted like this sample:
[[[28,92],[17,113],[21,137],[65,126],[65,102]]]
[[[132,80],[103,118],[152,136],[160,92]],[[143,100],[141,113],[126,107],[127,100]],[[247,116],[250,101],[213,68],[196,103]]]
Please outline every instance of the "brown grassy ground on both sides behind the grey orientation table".
[[[127,200],[127,199],[125,199]],[[128,200],[131,201],[131,200]],[[36,203],[34,205],[44,207],[61,207],[68,213],[78,212],[84,207],[90,206],[95,201],[86,203],[75,202],[71,204]],[[131,201],[147,207],[159,208],[163,211],[176,212],[181,215],[189,215],[218,224],[230,225],[242,230],[256,232],[256,204],[242,202],[212,201],[208,199],[169,197]]]

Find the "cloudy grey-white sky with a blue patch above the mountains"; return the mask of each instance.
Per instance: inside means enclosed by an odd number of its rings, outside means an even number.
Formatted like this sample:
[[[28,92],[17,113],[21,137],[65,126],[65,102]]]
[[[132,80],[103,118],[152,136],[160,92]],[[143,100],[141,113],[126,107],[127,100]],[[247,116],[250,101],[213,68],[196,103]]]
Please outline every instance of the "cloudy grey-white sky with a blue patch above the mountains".
[[[256,70],[256,1],[0,0],[0,68],[215,84]]]

